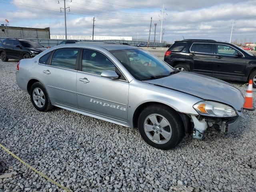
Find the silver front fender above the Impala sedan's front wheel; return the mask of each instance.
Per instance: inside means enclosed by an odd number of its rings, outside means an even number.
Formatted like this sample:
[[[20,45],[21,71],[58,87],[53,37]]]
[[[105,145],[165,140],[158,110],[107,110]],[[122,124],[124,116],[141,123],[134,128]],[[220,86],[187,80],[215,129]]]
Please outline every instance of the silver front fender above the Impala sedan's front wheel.
[[[165,104],[177,112],[198,115],[193,105],[201,98],[183,92],[148,84],[140,81],[132,81],[129,86],[128,102],[128,126],[133,127],[134,112],[142,104],[155,102]]]

